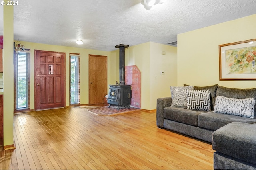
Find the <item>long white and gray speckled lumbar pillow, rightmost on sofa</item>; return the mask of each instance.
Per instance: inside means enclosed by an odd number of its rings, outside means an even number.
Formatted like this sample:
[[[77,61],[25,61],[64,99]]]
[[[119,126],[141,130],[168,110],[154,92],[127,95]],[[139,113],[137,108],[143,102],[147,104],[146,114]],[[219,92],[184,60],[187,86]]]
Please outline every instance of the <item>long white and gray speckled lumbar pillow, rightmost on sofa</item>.
[[[217,96],[213,112],[249,117],[253,119],[254,104],[254,98],[234,99],[224,96]]]

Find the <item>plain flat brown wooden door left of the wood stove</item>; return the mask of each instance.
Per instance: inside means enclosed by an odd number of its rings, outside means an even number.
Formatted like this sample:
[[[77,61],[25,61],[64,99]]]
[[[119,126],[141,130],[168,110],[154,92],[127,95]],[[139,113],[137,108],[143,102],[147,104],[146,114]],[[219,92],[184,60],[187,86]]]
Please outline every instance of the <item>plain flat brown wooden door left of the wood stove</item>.
[[[107,94],[107,56],[89,55],[89,104],[102,104]]]

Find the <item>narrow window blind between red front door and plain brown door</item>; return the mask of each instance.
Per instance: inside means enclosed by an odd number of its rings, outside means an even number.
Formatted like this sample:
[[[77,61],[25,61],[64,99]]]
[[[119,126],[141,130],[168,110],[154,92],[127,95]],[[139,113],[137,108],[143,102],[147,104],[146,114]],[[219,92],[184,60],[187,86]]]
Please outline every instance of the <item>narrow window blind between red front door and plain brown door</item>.
[[[80,55],[70,54],[70,105],[80,104]]]

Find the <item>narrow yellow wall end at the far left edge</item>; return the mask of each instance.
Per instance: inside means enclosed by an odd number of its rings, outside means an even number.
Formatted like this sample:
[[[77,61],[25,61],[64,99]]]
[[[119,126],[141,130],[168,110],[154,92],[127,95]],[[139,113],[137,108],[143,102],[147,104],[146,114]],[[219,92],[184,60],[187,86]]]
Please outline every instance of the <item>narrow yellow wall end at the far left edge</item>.
[[[13,144],[14,66],[13,66],[13,6],[4,6],[4,146]]]

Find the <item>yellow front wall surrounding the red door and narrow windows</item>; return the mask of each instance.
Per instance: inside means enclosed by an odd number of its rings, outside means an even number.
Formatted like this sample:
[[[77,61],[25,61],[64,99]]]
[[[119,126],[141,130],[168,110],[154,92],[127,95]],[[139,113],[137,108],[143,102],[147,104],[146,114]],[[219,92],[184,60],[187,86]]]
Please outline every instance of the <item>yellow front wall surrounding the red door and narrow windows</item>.
[[[80,104],[89,103],[89,54],[107,56],[108,68],[111,64],[111,59],[109,57],[108,51],[98,51],[74,47],[65,47],[59,45],[31,43],[24,41],[20,41],[20,43],[22,43],[25,46],[25,48],[30,49],[30,109],[34,109],[34,50],[58,51],[66,53],[66,106],[69,105],[69,53],[80,54]],[[110,76],[110,71],[111,69],[108,69],[108,76]]]

